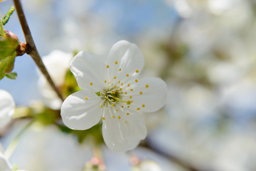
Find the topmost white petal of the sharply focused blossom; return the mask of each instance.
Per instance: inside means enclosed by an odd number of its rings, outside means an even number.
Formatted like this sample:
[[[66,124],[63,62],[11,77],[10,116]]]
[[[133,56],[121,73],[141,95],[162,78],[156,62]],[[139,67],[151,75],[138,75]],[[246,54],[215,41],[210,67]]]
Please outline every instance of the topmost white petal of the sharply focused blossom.
[[[123,79],[132,80],[139,76],[144,66],[144,58],[136,44],[121,40],[112,46],[107,64],[109,65],[109,78],[113,79],[116,76],[115,81],[122,82]],[[121,71],[119,71],[120,68]],[[139,73],[136,73],[136,70]],[[128,78],[127,74],[129,74]]]

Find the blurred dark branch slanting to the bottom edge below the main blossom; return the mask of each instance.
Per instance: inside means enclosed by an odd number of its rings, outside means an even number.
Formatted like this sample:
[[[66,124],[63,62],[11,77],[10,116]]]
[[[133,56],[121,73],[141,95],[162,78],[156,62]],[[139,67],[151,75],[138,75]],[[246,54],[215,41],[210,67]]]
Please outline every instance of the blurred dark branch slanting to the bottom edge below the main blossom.
[[[140,146],[143,146],[144,148],[151,149],[151,150],[153,150],[153,152],[156,152],[160,156],[168,158],[170,161],[175,162],[176,164],[178,164],[178,165],[182,166],[183,168],[188,169],[190,171],[214,171],[213,169],[197,168],[196,166],[193,166],[192,164],[189,164],[188,162],[182,160],[181,158],[178,158],[176,156],[173,156],[172,154],[169,154],[167,152],[163,152],[163,151],[155,148],[155,146],[150,145],[147,140],[144,141],[143,143],[141,143]]]

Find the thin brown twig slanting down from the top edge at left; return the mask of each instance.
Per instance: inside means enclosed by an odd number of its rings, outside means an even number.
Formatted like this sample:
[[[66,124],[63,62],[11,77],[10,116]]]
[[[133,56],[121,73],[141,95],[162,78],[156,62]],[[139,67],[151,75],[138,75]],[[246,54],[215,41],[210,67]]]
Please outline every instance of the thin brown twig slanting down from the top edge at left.
[[[24,34],[25,39],[26,39],[26,52],[27,52],[27,54],[29,54],[31,56],[31,58],[34,60],[34,62],[36,63],[36,65],[38,66],[38,68],[40,69],[42,74],[46,77],[48,83],[50,83],[51,87],[54,89],[54,91],[59,96],[59,98],[62,99],[62,101],[64,101],[62,95],[60,94],[60,92],[56,88],[54,82],[52,81],[50,75],[48,74],[48,71],[46,70],[46,67],[43,64],[43,61],[40,58],[38,50],[35,47],[35,43],[34,43],[34,40],[32,38],[29,26],[27,25],[27,21],[26,21],[26,18],[25,18],[25,15],[24,15],[24,12],[23,12],[23,9],[22,9],[22,6],[21,6],[21,2],[19,0],[14,0],[14,5],[15,5],[15,8],[17,10],[17,14],[18,14],[18,17],[19,17],[19,22],[21,23],[23,34]]]

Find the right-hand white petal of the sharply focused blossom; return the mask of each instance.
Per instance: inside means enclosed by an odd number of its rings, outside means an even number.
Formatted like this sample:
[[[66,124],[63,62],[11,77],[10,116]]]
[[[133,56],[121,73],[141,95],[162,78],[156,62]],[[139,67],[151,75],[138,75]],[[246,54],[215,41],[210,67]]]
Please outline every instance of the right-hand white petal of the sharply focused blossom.
[[[146,88],[146,85],[148,85],[148,88]],[[155,112],[165,104],[167,86],[160,78],[144,78],[131,84],[129,88],[133,91],[128,90],[124,99],[133,100],[130,105],[132,108],[140,108],[140,111],[143,112]],[[141,95],[140,92],[142,92]],[[132,96],[132,99],[129,99],[129,96]],[[143,104],[145,107],[143,107]]]

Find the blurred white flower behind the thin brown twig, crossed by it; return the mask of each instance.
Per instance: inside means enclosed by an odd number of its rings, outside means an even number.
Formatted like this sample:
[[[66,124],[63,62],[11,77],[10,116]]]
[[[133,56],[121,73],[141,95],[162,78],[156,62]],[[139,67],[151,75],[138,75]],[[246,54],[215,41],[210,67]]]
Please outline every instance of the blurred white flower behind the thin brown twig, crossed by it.
[[[71,54],[67,54],[59,50],[54,50],[49,55],[43,57],[43,63],[57,87],[62,85],[64,82],[64,78],[68,70],[68,64],[71,59]],[[62,105],[62,100],[59,99],[58,95],[56,95],[56,92],[52,89],[41,72],[39,73],[40,77],[38,80],[38,86],[43,97],[44,104],[51,109],[59,109]]]

